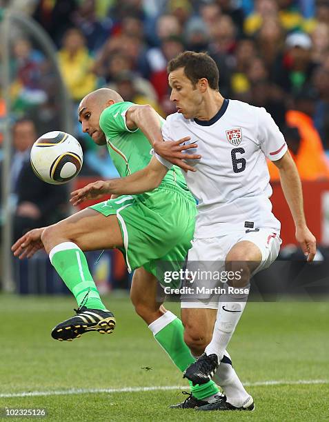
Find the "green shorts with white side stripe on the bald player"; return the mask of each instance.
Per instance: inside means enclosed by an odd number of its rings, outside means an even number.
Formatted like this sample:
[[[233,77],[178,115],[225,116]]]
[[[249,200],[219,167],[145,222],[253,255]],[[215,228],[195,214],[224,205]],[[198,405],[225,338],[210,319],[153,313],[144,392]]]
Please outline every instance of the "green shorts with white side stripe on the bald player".
[[[189,192],[163,183],[151,193],[123,195],[90,208],[106,217],[117,215],[124,245],[119,249],[129,272],[143,267],[163,284],[165,270],[181,268],[191,248],[197,214]]]

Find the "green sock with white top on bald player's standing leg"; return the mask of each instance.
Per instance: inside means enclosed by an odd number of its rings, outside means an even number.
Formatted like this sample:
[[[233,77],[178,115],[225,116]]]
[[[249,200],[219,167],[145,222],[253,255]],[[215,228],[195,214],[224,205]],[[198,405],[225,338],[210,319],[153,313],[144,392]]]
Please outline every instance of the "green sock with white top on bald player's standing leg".
[[[183,340],[183,323],[175,314],[167,311],[148,325],[148,328],[150,328],[154,338],[166,350],[170,359],[181,372],[195,362],[195,358],[192,357],[190,349]],[[190,383],[190,390],[196,399],[205,399],[219,392],[217,385],[213,381],[203,385],[192,385],[191,381],[188,382]]]

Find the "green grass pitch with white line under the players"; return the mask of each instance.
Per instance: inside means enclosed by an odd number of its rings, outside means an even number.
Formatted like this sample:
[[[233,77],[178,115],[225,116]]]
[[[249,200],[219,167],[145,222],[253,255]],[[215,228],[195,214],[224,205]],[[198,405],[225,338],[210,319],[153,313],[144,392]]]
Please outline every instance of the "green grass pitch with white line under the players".
[[[105,302],[117,316],[113,334],[61,343],[50,330],[71,316],[73,299],[0,296],[0,394],[184,385],[128,299]],[[169,308],[178,312],[176,304]],[[328,381],[328,327],[328,302],[248,303],[229,348],[235,369],[247,383]],[[179,390],[0,398],[0,407],[46,407],[51,421],[329,420],[329,383],[252,385],[248,391],[253,413],[168,410],[184,398]]]

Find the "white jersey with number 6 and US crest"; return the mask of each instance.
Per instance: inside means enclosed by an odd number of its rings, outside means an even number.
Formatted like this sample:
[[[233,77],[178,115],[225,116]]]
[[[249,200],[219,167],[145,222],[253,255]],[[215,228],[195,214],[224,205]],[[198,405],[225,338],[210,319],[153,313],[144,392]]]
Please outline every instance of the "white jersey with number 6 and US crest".
[[[167,117],[163,139],[190,137],[201,154],[188,161],[197,172],[183,172],[188,188],[198,201],[195,238],[255,228],[279,232],[280,222],[272,214],[270,175],[266,157],[272,161],[287,151],[283,134],[264,108],[236,100],[224,100],[210,121],[185,119],[175,113]],[[170,168],[171,163],[155,154]]]

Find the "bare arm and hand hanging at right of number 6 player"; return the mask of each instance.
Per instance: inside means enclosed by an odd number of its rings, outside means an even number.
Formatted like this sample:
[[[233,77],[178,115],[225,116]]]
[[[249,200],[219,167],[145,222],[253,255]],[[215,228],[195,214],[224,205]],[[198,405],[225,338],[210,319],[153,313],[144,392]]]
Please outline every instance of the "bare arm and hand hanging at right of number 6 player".
[[[303,191],[297,167],[288,151],[274,163],[279,168],[283,194],[295,222],[296,239],[301,244],[303,252],[308,256],[308,261],[312,261],[316,252],[316,240],[306,225],[303,210]]]

